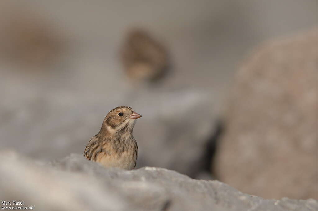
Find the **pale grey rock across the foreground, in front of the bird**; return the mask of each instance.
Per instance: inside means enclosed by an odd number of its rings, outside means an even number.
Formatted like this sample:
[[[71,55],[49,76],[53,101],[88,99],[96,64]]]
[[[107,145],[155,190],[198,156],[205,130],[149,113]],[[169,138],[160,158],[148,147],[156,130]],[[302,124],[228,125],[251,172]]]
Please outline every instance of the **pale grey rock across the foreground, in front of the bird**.
[[[48,164],[2,151],[0,175],[1,200],[36,210],[317,210],[313,199],[265,200],[168,169],[105,169],[76,154]]]

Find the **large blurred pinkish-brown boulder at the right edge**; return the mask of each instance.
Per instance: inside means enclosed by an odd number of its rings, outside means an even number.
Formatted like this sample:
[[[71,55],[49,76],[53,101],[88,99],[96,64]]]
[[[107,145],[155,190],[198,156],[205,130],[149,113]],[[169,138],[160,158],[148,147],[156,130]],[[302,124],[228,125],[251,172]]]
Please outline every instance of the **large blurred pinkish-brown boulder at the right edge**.
[[[259,48],[226,117],[219,180],[264,198],[317,199],[317,29]]]

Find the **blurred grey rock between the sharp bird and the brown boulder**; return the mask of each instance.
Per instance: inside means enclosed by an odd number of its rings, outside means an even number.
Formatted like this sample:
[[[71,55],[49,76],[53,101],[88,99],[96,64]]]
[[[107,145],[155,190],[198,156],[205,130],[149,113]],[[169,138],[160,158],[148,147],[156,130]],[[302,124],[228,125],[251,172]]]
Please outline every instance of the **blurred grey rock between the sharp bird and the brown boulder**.
[[[133,103],[143,115],[133,132],[140,152],[137,167],[163,167],[196,178],[206,170],[207,144],[217,127],[209,93],[177,89],[139,96]]]

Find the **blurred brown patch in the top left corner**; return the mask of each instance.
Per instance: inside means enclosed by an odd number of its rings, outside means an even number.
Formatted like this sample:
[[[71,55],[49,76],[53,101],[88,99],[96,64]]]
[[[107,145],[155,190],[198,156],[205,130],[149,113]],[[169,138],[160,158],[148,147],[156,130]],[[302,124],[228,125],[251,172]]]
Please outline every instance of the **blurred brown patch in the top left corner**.
[[[25,68],[51,65],[63,48],[57,27],[23,5],[0,4],[0,59]]]

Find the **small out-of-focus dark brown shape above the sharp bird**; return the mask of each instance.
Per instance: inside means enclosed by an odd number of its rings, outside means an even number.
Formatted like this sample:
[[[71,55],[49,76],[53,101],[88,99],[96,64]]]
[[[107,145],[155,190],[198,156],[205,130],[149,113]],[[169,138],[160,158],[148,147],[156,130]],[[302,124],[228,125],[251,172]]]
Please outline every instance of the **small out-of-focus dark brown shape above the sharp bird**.
[[[155,81],[169,67],[165,47],[142,29],[128,33],[122,49],[122,63],[128,76],[135,81]]]

